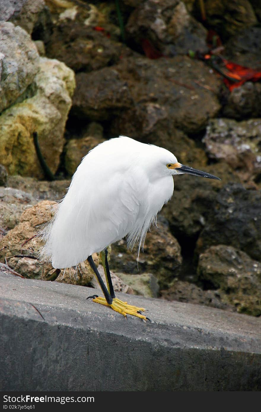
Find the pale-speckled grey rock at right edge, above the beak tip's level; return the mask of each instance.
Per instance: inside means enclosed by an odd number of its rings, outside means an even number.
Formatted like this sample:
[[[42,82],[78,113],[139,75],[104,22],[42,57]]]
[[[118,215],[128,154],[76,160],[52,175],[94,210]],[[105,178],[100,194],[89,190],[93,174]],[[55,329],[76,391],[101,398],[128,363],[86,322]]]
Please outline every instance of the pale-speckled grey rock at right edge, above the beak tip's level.
[[[211,119],[202,140],[210,158],[223,160],[242,182],[261,173],[261,119]]]

